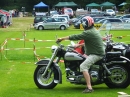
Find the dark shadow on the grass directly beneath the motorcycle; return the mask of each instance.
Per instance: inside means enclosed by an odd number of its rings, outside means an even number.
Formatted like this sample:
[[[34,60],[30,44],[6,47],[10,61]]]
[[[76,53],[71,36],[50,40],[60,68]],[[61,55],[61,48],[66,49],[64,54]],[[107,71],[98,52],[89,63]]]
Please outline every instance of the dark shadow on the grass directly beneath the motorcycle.
[[[80,86],[80,85],[59,85],[56,86],[54,89],[39,89],[39,88],[21,88],[20,91],[28,92],[28,94],[45,94],[47,95],[68,95],[68,94],[81,94],[81,92],[85,89],[85,86]],[[93,87],[94,93],[95,94],[111,94],[111,93],[116,93],[119,91],[124,91],[124,89],[110,89],[105,85],[97,85]],[[51,94],[50,94],[51,93]]]

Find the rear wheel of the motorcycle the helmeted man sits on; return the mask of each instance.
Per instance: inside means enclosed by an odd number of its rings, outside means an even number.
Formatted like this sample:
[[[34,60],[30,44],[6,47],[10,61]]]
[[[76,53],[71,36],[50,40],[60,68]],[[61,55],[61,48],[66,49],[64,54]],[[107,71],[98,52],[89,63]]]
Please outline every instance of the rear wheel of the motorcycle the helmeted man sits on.
[[[109,88],[127,88],[129,86],[130,71],[127,66],[113,64],[109,70],[112,74],[105,79],[105,84]]]

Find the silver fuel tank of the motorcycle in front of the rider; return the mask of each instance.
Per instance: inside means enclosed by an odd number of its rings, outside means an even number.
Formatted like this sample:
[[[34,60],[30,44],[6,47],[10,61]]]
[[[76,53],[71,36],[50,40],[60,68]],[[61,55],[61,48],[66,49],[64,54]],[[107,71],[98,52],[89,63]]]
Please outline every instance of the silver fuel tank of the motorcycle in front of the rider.
[[[74,52],[67,52],[64,56],[65,60],[83,60],[83,56],[78,54],[78,53],[74,53]]]

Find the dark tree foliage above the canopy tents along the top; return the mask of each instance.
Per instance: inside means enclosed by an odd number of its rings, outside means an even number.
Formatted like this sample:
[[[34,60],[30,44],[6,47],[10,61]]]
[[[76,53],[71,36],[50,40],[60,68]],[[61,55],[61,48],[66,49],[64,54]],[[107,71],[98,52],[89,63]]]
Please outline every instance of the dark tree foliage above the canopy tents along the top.
[[[1,9],[19,9],[21,10],[21,7],[25,7],[26,11],[32,11],[33,6],[38,4],[39,2],[44,2],[45,4],[49,5],[50,8],[53,8],[55,4],[58,2],[69,2],[73,1],[76,4],[78,4],[78,7],[85,8],[85,6],[89,3],[98,3],[101,4],[103,2],[106,2],[106,0],[0,0],[0,8]],[[118,5],[124,2],[124,0],[108,0],[109,2],[112,2]],[[130,0],[126,0],[126,2],[130,3]],[[130,7],[130,5],[127,5],[127,7]]]

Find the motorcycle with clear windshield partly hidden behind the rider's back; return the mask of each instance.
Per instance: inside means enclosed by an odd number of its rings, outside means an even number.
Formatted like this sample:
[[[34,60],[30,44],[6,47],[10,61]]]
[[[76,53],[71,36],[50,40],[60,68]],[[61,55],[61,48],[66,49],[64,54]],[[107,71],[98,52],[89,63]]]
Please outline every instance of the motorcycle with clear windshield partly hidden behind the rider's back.
[[[106,41],[104,41],[106,52],[120,51],[122,56],[130,59],[130,44],[125,44],[123,42],[114,42],[112,40],[112,34],[110,33],[111,27],[111,23],[107,23],[107,21],[105,21],[98,30],[101,35],[106,37]],[[115,38],[122,39],[123,37],[117,36]]]

